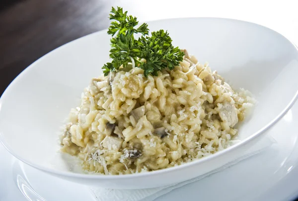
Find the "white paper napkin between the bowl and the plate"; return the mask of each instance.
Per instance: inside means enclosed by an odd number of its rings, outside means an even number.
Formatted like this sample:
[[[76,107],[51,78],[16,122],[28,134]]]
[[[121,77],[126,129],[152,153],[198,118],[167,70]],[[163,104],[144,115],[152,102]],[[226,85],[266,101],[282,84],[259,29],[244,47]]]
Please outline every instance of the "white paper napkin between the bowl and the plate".
[[[91,187],[90,190],[94,195],[96,201],[153,201],[154,199],[169,193],[170,191],[182,187],[186,184],[196,182],[204,177],[207,177],[211,174],[216,172],[223,171],[225,168],[228,168],[236,163],[249,158],[257,153],[260,153],[264,149],[270,147],[272,144],[276,143],[276,140],[268,135],[265,136],[263,139],[258,141],[253,147],[248,149],[241,157],[237,158],[236,160],[225,164],[224,166],[208,172],[204,175],[196,177],[194,179],[190,179],[178,184],[173,184],[164,187],[157,187],[151,189],[137,189],[137,190],[119,190],[119,189],[104,189],[104,188],[94,188]]]

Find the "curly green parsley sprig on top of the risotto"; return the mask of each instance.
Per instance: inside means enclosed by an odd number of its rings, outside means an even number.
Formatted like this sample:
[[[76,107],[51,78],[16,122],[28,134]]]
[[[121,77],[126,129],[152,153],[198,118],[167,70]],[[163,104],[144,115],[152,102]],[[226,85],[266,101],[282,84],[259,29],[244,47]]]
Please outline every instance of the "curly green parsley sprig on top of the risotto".
[[[136,17],[123,13],[121,7],[117,10],[112,7],[110,19],[111,22],[108,34],[114,36],[111,39],[110,58],[111,63],[105,64],[105,76],[110,71],[118,71],[120,67],[126,68],[128,63],[135,64],[136,67],[144,69],[144,75],[157,75],[159,70],[164,68],[173,69],[183,61],[184,53],[172,45],[172,39],[164,30],[151,32],[149,36],[148,24],[143,23],[138,28]],[[138,40],[135,34],[142,34]],[[146,61],[142,60],[145,59]]]

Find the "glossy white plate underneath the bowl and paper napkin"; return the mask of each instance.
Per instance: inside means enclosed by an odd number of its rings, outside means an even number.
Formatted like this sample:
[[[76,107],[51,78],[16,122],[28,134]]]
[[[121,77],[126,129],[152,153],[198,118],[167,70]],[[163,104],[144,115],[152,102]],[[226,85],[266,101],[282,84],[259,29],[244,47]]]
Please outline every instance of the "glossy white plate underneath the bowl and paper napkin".
[[[156,201],[180,201],[185,195],[189,201],[197,201],[198,198],[209,201],[292,201],[298,196],[297,122],[298,104],[271,131],[277,144],[223,172],[176,189]],[[36,195],[26,187],[28,184],[45,201],[94,201],[87,186],[52,177],[25,165],[2,145],[0,161],[3,164],[0,166],[1,201],[25,201],[20,191],[35,201],[33,198]]]

